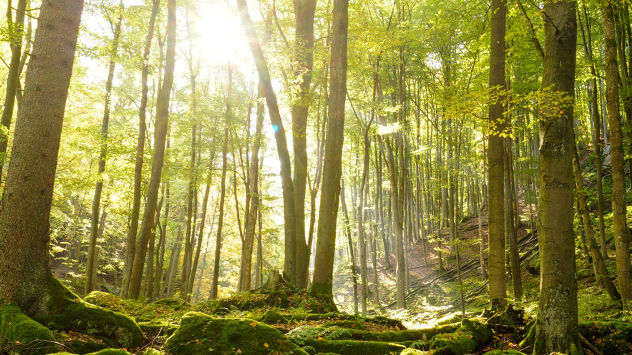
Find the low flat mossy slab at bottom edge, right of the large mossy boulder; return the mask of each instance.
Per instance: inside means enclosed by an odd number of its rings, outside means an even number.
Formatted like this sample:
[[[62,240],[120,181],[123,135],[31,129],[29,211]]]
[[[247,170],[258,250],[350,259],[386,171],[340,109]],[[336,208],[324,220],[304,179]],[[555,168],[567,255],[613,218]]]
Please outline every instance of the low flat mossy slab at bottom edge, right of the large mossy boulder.
[[[358,340],[304,340],[306,346],[311,346],[317,352],[335,352],[339,355],[388,355],[399,353],[405,346],[390,342],[365,342]]]

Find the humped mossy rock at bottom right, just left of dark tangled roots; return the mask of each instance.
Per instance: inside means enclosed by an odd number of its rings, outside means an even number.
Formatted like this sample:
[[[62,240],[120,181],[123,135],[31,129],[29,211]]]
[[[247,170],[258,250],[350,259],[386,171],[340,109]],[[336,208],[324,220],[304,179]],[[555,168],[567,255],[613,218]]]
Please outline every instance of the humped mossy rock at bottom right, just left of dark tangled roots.
[[[464,319],[454,333],[439,334],[430,341],[434,354],[463,355],[492,339],[492,331],[480,322]]]

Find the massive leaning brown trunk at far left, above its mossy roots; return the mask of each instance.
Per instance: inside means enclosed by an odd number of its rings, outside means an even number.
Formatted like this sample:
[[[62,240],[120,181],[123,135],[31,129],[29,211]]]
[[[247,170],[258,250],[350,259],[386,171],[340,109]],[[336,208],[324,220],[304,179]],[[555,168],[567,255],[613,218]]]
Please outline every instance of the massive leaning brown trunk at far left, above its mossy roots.
[[[0,299],[50,314],[49,215],[83,0],[44,1],[0,205]]]

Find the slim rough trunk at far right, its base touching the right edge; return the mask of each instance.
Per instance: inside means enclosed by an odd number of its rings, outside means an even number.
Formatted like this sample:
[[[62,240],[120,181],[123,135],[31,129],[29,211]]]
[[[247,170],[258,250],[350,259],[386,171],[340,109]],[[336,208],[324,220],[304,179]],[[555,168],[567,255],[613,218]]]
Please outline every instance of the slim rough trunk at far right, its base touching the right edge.
[[[630,283],[630,233],[626,224],[626,186],[624,171],[623,133],[619,111],[619,73],[617,47],[614,36],[612,5],[602,7],[605,52],[605,99],[610,124],[612,156],[612,224],[616,240],[617,279],[623,310],[632,310],[632,284]]]

